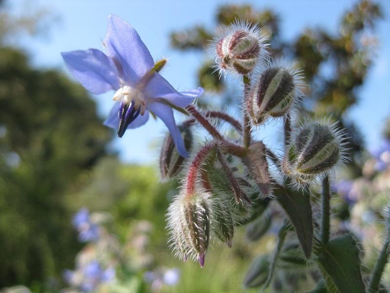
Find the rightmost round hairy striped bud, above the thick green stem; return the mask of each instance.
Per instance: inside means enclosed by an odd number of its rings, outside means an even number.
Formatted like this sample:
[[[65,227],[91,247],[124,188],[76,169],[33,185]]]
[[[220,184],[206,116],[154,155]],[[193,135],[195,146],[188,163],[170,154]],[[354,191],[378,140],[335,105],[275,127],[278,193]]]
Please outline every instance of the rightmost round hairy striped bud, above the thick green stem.
[[[343,131],[337,130],[335,124],[307,122],[293,132],[293,137],[282,169],[298,183],[307,183],[344,160]]]

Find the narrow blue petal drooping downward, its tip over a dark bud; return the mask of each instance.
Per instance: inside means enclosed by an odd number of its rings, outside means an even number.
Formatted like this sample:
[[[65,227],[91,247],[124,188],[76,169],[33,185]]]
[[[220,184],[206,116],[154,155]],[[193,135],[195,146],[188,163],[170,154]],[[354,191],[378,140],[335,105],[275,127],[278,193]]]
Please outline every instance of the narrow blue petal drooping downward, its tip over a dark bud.
[[[180,154],[180,156],[185,158],[188,157],[186,147],[184,146],[183,138],[175,123],[174,111],[172,110],[172,108],[168,105],[158,102],[152,102],[148,104],[147,107],[150,111],[155,113],[156,116],[158,116],[168,127],[169,132],[171,132],[171,136],[176,145],[177,152]]]

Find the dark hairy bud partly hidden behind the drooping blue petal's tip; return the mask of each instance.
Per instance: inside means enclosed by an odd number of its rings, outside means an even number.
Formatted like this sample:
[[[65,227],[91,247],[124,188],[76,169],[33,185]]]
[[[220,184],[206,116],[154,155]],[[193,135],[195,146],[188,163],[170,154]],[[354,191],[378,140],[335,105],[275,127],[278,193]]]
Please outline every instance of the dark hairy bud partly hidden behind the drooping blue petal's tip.
[[[194,138],[191,126],[186,124],[178,126],[181,136],[183,137],[184,146],[190,152],[194,145]],[[183,168],[185,158],[177,152],[175,143],[170,133],[164,139],[160,153],[160,174],[162,180],[174,178]]]

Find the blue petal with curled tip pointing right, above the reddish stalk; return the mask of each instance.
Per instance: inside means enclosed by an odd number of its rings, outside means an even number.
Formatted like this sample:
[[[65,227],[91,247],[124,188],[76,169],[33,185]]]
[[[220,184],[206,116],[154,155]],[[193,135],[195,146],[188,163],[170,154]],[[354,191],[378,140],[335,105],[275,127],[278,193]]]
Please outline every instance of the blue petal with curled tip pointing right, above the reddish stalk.
[[[199,97],[204,90],[199,87],[198,89],[178,92],[165,78],[155,73],[145,85],[144,91],[149,98],[163,98],[178,107],[184,108]]]

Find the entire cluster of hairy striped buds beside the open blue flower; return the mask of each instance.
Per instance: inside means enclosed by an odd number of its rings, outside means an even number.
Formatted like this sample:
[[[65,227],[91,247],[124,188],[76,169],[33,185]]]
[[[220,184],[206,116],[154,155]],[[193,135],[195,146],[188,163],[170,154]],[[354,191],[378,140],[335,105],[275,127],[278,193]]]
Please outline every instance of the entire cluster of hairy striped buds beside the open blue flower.
[[[271,216],[265,210],[269,209],[277,180],[269,170],[269,150],[261,141],[251,141],[250,126],[285,117],[286,154],[282,162],[276,156],[273,161],[300,187],[329,174],[344,160],[343,132],[334,124],[307,122],[291,132],[288,119],[303,95],[302,76],[291,65],[268,60],[264,40],[260,29],[242,23],[225,27],[223,35],[215,37],[213,50],[220,72],[234,71],[246,84],[242,126],[227,114],[211,111],[212,117],[189,106],[194,119],[179,126],[187,150],[194,150],[190,127],[196,121],[214,140],[188,161],[177,153],[170,135],[162,146],[161,177],[184,175],[180,192],[168,210],[171,247],[176,256],[197,260],[201,267],[211,241],[232,246],[236,226],[254,222],[250,239],[257,239],[271,226]],[[234,126],[244,138],[243,146],[220,134],[210,118]]]

